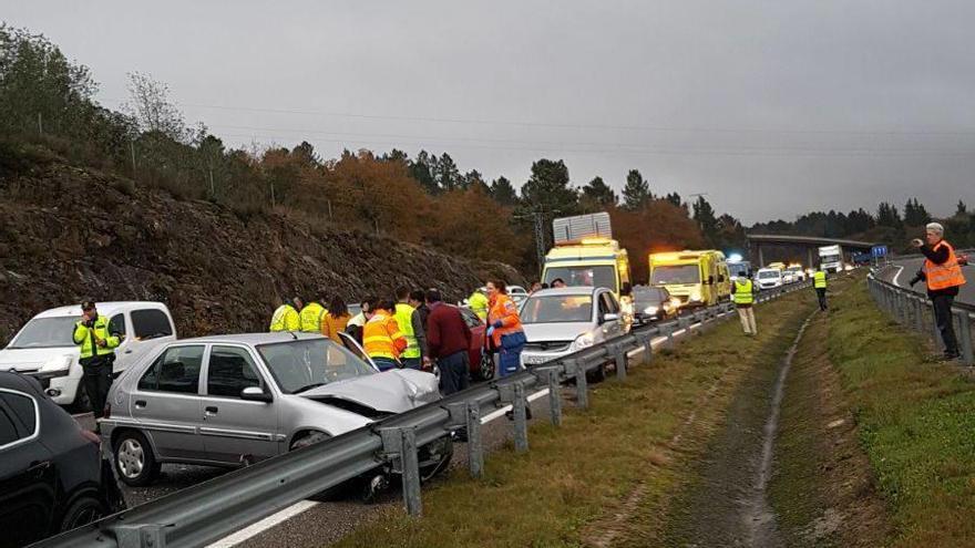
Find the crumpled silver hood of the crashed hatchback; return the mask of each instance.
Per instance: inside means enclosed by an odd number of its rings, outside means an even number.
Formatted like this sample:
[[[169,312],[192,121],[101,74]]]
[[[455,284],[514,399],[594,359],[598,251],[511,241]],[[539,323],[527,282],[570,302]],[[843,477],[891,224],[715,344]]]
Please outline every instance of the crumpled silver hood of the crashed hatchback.
[[[411,369],[394,369],[326,384],[299,395],[311,400],[339,397],[387,413],[402,413],[441,397],[437,376]]]

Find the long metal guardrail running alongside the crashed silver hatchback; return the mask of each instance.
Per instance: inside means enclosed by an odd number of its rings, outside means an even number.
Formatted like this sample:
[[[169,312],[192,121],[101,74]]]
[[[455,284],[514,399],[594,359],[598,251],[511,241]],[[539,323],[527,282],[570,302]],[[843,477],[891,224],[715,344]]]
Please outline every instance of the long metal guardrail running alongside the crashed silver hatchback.
[[[762,291],[758,303],[808,288],[809,282]],[[688,334],[733,313],[722,303],[667,323],[627,334],[550,361],[505,379],[483,383],[438,402],[378,421],[301,451],[263,461],[172,495],[142,504],[84,527],[38,542],[37,547],[165,548],[204,547],[295,503],[373,471],[392,466],[403,477],[403,500],[410,515],[422,514],[417,451],[424,444],[466,428],[470,473],[482,477],[484,449],[481,425],[488,413],[513,409],[515,451],[528,449],[525,409],[530,399],[558,394],[575,382],[576,405],[588,407],[586,373],[616,364],[625,380],[629,353],[643,351],[653,360],[655,348],[674,347]],[[528,391],[540,389],[533,394]],[[550,397],[550,420],[562,421],[562,400]],[[488,413],[485,413],[485,411]]]

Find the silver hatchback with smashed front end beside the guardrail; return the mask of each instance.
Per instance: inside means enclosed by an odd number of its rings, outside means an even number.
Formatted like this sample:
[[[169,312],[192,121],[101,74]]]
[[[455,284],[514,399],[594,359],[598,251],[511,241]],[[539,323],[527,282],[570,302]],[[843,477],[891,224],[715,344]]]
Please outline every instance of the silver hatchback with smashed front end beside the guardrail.
[[[440,400],[437,378],[380,373],[351,339],[253,333],[184,339],[131,366],[100,421],[119,477],[146,485],[162,463],[243,466]],[[421,466],[450,459],[450,440]]]

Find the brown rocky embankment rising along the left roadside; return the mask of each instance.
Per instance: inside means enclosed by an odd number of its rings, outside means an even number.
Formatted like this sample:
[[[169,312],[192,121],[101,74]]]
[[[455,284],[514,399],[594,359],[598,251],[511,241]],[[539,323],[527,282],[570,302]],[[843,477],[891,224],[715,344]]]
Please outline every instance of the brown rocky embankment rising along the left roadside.
[[[278,297],[355,301],[398,286],[462,299],[513,268],[388,237],[240,216],[60,164],[0,176],[0,343],[31,316],[95,300],[165,302],[181,337],[264,331]]]

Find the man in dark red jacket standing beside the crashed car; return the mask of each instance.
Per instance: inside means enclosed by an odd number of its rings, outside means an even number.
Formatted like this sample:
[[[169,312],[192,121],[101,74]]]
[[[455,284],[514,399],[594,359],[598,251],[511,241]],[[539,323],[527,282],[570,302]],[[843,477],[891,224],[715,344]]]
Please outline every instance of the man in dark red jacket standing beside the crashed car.
[[[464,390],[469,385],[471,369],[468,349],[471,347],[471,328],[464,322],[456,307],[444,304],[440,291],[427,291],[427,348],[430,358],[440,368],[440,391],[443,395]]]

